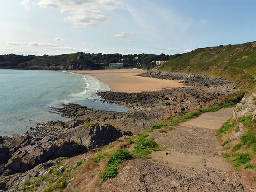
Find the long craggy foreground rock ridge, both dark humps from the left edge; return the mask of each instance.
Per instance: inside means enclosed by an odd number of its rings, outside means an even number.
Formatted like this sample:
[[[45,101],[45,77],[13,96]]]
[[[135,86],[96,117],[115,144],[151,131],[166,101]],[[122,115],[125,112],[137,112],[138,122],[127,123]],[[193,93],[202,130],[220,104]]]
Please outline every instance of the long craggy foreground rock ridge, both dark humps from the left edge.
[[[121,132],[110,125],[85,124],[70,127],[58,137],[16,136],[1,146],[1,159],[3,160],[0,173],[3,175],[24,173],[48,160],[70,157],[102,147],[123,135],[131,135],[131,133]]]

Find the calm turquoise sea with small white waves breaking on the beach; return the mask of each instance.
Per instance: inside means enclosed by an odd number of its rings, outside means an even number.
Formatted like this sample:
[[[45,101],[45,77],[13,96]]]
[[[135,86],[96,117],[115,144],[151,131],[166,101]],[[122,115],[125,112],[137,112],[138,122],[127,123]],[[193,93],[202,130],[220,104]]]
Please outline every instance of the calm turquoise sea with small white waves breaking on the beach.
[[[0,69],[0,135],[24,134],[37,123],[67,121],[54,108],[77,103],[89,108],[126,112],[102,103],[96,94],[109,91],[96,77],[66,71]]]

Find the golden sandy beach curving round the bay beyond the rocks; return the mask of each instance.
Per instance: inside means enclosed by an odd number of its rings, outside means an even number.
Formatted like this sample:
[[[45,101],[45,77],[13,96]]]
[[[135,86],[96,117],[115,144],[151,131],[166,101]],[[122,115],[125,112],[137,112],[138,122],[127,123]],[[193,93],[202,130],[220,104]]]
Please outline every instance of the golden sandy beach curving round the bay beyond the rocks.
[[[177,80],[164,80],[136,76],[137,74],[146,72],[144,70],[73,70],[70,72],[95,76],[99,80],[107,83],[111,91],[117,92],[133,93],[142,91],[159,91],[176,87],[188,87]]]

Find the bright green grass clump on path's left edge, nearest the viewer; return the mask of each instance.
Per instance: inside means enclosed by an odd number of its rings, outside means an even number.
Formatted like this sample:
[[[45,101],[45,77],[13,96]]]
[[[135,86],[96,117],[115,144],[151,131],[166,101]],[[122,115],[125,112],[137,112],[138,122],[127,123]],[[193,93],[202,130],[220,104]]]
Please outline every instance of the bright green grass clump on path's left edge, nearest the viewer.
[[[104,180],[114,178],[118,174],[118,164],[121,164],[123,160],[130,159],[132,156],[128,150],[118,150],[116,153],[113,153],[108,163],[106,164],[107,171],[101,176]]]

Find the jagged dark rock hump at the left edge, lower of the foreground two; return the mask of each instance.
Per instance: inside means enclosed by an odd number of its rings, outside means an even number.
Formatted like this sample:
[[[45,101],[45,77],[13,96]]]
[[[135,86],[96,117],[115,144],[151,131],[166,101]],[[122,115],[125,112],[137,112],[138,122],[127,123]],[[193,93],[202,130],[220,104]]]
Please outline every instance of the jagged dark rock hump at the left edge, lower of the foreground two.
[[[1,167],[1,174],[24,173],[50,159],[72,156],[87,151],[86,146],[78,145],[74,141],[57,140],[51,136],[47,136],[41,140],[39,138],[32,139],[28,137],[19,138],[18,140],[24,141],[26,144],[15,145],[19,147],[16,151],[9,150],[9,159]]]

